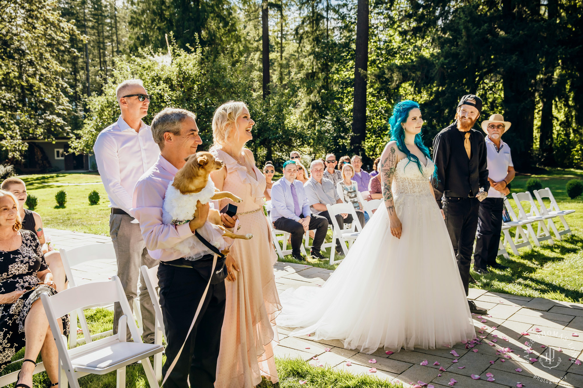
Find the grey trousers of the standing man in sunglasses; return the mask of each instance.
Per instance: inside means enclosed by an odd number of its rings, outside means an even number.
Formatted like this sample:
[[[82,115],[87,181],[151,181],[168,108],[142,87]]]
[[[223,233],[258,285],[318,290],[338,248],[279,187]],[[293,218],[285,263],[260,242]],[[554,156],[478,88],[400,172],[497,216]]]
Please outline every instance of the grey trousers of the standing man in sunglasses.
[[[145,343],[154,342],[154,306],[150,294],[147,292],[140,267],[148,268],[157,266],[159,260],[154,260],[147,253],[146,243],[142,238],[139,224],[132,224],[134,217],[127,214],[110,214],[110,235],[117,259],[117,276],[124,287],[125,297],[128,298],[129,308],[134,311],[134,299],[138,297],[138,278],[140,281],[140,311],[142,312],[143,333]],[[121,305],[115,303],[113,315],[113,332],[117,333],[117,325],[120,317],[124,315]],[[128,317],[128,319],[133,319]],[[131,333],[127,331],[128,341]]]

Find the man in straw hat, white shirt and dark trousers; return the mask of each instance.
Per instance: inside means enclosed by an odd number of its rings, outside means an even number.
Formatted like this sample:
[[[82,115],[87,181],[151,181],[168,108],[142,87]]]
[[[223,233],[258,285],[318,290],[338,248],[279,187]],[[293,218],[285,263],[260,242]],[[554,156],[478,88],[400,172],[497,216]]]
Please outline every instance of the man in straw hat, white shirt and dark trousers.
[[[510,122],[504,121],[502,115],[491,115],[482,122],[486,132],[486,148],[488,150],[488,181],[490,189],[488,197],[480,203],[477,221],[476,248],[474,250],[474,270],[479,274],[488,273],[488,267],[507,269],[498,264],[498,245],[502,230],[502,211],[504,196],[510,193],[507,185],[514,179],[514,167],[510,147],[502,141],[502,135],[510,129]]]

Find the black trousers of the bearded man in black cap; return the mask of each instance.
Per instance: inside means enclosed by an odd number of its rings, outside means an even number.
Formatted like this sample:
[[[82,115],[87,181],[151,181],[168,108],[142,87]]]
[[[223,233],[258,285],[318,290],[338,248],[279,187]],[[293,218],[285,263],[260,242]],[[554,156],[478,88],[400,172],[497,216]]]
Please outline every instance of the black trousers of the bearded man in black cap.
[[[476,197],[445,197],[443,211],[455,258],[458,260],[459,276],[468,295],[470,264],[473,242],[476,238],[477,216],[480,201]]]

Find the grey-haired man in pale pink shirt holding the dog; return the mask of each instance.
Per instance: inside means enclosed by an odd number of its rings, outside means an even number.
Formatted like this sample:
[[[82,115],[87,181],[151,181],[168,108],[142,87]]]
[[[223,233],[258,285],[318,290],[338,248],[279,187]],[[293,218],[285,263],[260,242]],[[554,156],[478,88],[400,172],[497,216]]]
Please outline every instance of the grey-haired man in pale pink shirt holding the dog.
[[[216,270],[211,274],[213,255],[192,260],[173,248],[202,227],[209,204],[200,205],[198,217],[189,223],[162,223],[162,206],[168,185],[185,164],[184,159],[196,153],[196,148],[202,144],[195,118],[194,113],[175,108],[165,108],[154,117],[152,136],[160,147],[160,156],[134,189],[132,210],[140,223],[148,252],[152,258],[160,260],[160,307],[168,343],[164,375],[186,338],[203,291],[212,277],[188,341],[164,383],[167,388],[187,388],[187,379],[192,386],[213,387],[226,298],[224,259],[217,261]],[[223,214],[223,221],[226,227],[234,226],[233,219],[226,214]]]

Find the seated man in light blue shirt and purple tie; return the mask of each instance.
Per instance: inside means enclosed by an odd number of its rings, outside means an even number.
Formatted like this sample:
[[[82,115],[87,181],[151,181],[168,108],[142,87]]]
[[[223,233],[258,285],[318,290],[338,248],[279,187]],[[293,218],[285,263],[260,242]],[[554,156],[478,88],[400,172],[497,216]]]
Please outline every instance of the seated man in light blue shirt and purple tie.
[[[297,166],[292,160],[283,164],[283,178],[275,182],[271,188],[271,213],[269,216],[276,229],[291,234],[291,257],[305,261],[300,253],[300,246],[305,231],[316,230],[312,250],[313,258],[325,259],[320,248],[326,232],[328,220],[322,216],[312,216],[310,204],[304,192],[304,185],[296,180]]]

